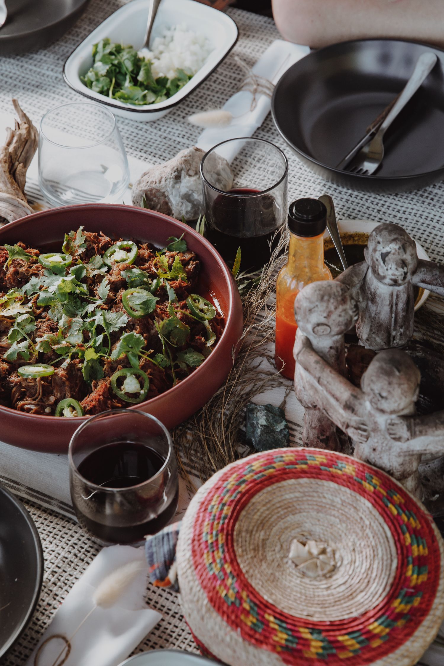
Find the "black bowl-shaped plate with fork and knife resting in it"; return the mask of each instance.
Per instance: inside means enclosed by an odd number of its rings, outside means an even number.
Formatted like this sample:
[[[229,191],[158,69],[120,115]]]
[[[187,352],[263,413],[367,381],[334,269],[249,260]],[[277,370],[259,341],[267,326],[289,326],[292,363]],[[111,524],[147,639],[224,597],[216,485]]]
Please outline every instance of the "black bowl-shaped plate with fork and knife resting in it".
[[[335,166],[403,89],[421,53],[437,65],[387,131],[373,176]],[[366,39],[312,51],[284,73],[272,99],[276,127],[312,170],[359,190],[402,192],[444,178],[444,51],[394,39]]]

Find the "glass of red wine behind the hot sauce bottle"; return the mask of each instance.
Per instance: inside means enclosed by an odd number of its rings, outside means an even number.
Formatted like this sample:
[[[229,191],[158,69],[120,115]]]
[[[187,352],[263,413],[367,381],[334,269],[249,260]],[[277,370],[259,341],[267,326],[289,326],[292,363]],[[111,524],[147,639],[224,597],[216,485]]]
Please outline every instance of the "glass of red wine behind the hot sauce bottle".
[[[234,172],[226,191],[218,188],[220,157]],[[232,268],[238,248],[240,270],[259,270],[269,260],[287,220],[288,161],[264,139],[229,139],[202,159],[200,177],[205,235]]]

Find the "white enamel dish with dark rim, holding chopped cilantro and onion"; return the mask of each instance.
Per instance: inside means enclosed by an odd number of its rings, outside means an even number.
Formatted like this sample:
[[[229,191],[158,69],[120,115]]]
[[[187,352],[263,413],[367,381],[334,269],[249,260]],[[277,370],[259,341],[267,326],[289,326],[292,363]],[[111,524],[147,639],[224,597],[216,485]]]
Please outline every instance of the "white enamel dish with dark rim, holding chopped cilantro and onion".
[[[93,44],[109,37],[111,41],[131,44],[140,49],[144,41],[147,17],[148,0],[132,0],[105,19],[67,59],[63,67],[63,78],[69,87],[88,99],[106,105],[115,115],[138,121],[154,121],[188,97],[220,65],[238,39],[236,23],[222,11],[195,0],[162,0],[154,22],[152,39],[162,35],[165,29],[173,25],[186,24],[189,29],[207,37],[213,46],[213,51],[194,77],[176,95],[164,102],[140,107],[109,99],[84,85],[81,77],[93,66]]]

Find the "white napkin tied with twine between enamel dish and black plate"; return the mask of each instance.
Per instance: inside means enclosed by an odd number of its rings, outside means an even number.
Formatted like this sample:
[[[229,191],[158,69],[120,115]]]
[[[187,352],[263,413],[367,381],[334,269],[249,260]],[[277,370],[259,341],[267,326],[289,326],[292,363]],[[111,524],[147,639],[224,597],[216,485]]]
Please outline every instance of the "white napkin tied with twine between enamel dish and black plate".
[[[310,53],[310,47],[300,46],[276,39],[260,57],[252,72],[258,77],[268,79],[273,84],[278,83],[284,72],[297,63],[298,60]],[[256,129],[262,125],[266,115],[271,109],[272,101],[267,95],[256,95],[256,107],[251,111],[253,95],[250,91],[241,90],[225,103],[222,107],[230,111],[233,120],[226,127],[211,127],[205,129],[196,146],[202,151],[209,151],[221,141],[238,139],[240,137],[252,137]],[[228,162],[236,157],[236,151],[218,151]]]

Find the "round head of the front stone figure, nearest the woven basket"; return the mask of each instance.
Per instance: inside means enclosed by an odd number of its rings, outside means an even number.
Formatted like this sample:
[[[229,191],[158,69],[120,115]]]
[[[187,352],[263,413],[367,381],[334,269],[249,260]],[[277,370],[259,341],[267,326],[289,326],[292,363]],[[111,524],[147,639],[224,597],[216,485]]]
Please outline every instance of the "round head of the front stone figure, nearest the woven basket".
[[[410,356],[399,349],[379,352],[361,379],[371,406],[385,414],[401,414],[418,399],[421,374]]]

